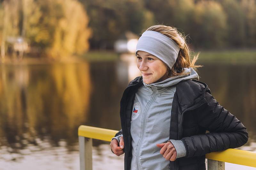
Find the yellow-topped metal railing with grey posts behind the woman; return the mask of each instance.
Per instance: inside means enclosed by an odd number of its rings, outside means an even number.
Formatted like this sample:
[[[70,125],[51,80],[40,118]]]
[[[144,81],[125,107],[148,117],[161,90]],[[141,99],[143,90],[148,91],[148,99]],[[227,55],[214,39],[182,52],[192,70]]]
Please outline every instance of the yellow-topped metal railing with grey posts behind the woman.
[[[117,132],[118,131],[115,130],[103,129],[92,126],[79,126],[78,136],[80,152],[80,170],[92,169],[92,139],[99,139],[110,142],[111,138],[113,138],[113,136],[115,136]],[[206,158],[211,159],[211,163],[208,160],[208,170],[225,169],[224,162],[256,167],[256,153],[250,151],[227,149],[225,151],[208,153],[206,154]],[[209,163],[211,164],[210,168]]]

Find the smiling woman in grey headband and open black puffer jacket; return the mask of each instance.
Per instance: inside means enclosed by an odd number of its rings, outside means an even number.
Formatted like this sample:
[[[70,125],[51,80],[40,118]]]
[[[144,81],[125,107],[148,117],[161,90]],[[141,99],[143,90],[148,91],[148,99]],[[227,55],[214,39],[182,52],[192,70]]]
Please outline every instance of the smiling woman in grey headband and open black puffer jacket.
[[[248,141],[244,125],[211,96],[176,28],[151,26],[140,37],[137,66],[121,99],[122,130],[110,147],[125,170],[203,170],[205,154]],[[206,133],[209,131],[209,133]]]

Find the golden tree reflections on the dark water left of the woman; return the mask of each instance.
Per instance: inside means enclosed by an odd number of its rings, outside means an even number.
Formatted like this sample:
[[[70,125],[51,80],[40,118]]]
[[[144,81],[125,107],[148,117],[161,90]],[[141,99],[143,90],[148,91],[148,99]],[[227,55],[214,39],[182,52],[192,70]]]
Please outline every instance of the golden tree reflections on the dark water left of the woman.
[[[89,64],[2,65],[1,146],[23,149],[50,137],[77,142],[77,127],[88,117]]]

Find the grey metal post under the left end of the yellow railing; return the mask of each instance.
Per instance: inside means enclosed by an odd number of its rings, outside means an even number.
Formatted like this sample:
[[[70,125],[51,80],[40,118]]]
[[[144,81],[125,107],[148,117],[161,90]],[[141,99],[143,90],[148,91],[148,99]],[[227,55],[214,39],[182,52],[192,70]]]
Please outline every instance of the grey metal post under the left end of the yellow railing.
[[[79,136],[80,170],[92,170],[92,138]]]

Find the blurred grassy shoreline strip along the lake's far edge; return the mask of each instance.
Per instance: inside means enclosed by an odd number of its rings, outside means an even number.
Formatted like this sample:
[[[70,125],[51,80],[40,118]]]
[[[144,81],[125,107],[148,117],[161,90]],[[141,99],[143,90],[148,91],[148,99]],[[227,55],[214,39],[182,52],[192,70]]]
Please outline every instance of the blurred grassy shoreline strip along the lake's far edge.
[[[200,52],[198,62],[225,62],[225,63],[256,63],[256,49],[228,49],[228,50],[202,50],[191,52],[195,55]],[[114,51],[89,51],[81,56],[71,56],[54,60],[51,58],[33,58],[24,57],[22,60],[11,60],[6,57],[4,63],[10,65],[20,64],[51,64],[51,63],[80,63],[80,62],[101,62],[101,61],[116,61],[119,59],[119,54]]]

